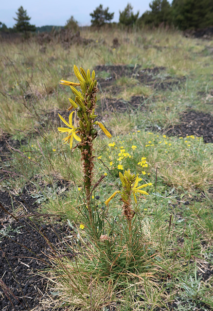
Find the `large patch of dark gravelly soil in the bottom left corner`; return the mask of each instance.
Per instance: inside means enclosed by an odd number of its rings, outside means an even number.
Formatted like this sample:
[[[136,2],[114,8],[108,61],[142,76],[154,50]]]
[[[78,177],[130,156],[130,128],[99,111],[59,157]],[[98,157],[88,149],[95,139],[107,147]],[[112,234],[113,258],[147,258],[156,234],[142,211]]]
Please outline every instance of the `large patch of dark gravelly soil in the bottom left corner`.
[[[51,215],[43,216],[49,219],[46,224],[40,222],[36,200],[26,189],[20,196],[0,191],[0,203],[0,310],[31,310],[47,288],[47,280],[37,271],[47,269],[48,256],[57,255],[53,249],[58,243],[62,247],[60,237],[71,234],[71,228],[51,225]],[[12,203],[31,218],[22,214],[14,219],[2,209],[12,213]]]

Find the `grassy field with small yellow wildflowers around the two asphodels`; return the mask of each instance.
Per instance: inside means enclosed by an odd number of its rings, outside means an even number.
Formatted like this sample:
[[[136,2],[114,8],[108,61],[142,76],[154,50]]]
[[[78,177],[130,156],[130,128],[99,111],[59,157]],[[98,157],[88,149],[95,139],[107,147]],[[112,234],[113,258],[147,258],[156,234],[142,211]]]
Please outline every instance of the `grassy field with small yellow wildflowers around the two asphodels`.
[[[57,216],[52,225],[60,220],[72,228],[72,236],[63,237],[66,251],[86,254],[52,259],[44,276],[52,294],[40,310],[212,310],[212,142],[190,127],[182,135],[170,130],[187,111],[213,118],[213,41],[162,29],[86,30],[81,36],[92,40],[69,48],[53,42],[42,49],[35,39],[0,44],[0,191],[21,195],[30,185],[38,212]],[[102,254],[88,233],[80,152],[63,145],[57,130],[58,113],[68,120],[68,98],[74,99],[58,82],[77,82],[74,64],[95,69],[98,120],[112,134],[109,140],[99,129],[94,142],[94,183],[106,176],[92,195],[105,234],[114,230],[111,268],[102,257],[110,242]],[[119,195],[104,203],[121,189],[119,172],[128,169],[139,185],[148,183],[149,193],[133,204],[132,254],[141,257],[133,263]],[[9,210],[26,213],[21,206]],[[125,256],[128,264],[121,267]]]

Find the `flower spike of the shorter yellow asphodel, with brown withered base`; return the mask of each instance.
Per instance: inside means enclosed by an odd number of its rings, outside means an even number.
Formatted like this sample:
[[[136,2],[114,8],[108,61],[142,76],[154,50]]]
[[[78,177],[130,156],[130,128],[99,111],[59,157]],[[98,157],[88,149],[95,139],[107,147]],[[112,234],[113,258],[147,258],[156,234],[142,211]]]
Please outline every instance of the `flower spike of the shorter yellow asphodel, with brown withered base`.
[[[134,173],[130,173],[130,170],[125,171],[124,175],[119,172],[119,177],[122,182],[123,190],[116,190],[106,201],[105,204],[107,205],[116,194],[121,194],[121,201],[123,202],[123,213],[124,216],[131,220],[134,217],[134,210],[131,209],[131,194],[134,196],[135,203],[137,203],[136,194],[147,194],[148,193],[144,190],[141,190],[144,187],[147,187],[148,184],[144,184],[138,187],[139,177]]]

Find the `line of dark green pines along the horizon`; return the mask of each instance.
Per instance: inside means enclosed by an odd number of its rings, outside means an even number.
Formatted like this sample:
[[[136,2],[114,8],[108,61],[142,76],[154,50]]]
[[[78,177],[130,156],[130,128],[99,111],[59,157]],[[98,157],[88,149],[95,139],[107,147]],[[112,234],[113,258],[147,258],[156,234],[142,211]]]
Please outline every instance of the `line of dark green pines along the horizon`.
[[[150,27],[159,27],[160,25],[175,26],[180,30],[197,29],[213,26],[213,0],[173,0],[170,4],[168,0],[153,0],[149,3],[150,10],[144,12],[139,17],[139,11],[134,14],[133,7],[130,3],[123,11],[119,11],[119,25],[124,27],[142,27],[148,25]],[[16,24],[13,28],[7,28],[4,23],[0,22],[0,31],[3,32],[20,32],[25,35],[35,31],[51,31],[53,26],[35,27],[30,24],[27,11],[22,6],[16,12],[17,17],[13,17]],[[114,13],[109,12],[109,8],[104,8],[100,4],[90,13],[91,26],[98,28],[109,24]],[[54,28],[59,28],[55,26]],[[77,31],[79,29],[78,21],[71,16],[64,28]]]

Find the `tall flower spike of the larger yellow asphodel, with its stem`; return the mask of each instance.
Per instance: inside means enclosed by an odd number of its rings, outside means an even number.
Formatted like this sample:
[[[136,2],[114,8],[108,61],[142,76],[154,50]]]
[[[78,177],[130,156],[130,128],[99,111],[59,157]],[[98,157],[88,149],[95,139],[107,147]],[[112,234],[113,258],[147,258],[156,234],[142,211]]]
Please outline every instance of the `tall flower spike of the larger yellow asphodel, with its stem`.
[[[93,70],[90,75],[89,69],[86,73],[83,68],[80,68],[79,71],[74,65],[74,73],[79,81],[78,83],[60,80],[60,84],[70,86],[72,93],[75,95],[75,101],[69,98],[71,106],[67,109],[68,111],[72,109],[75,110],[74,125],[72,125],[74,111],[70,114],[69,123],[59,115],[60,119],[68,126],[68,128],[58,127],[58,131],[67,134],[63,140],[64,143],[70,143],[70,148],[72,148],[73,138],[78,141],[77,147],[81,150],[81,160],[83,164],[87,207],[90,222],[92,223],[90,188],[93,180],[94,168],[93,139],[95,139],[98,134],[94,125],[98,125],[108,138],[111,138],[112,136],[101,122],[95,121],[97,118],[97,115],[95,115],[97,102],[96,94],[99,91],[97,80],[95,80],[95,71]],[[80,86],[81,91],[76,89],[78,86]]]

